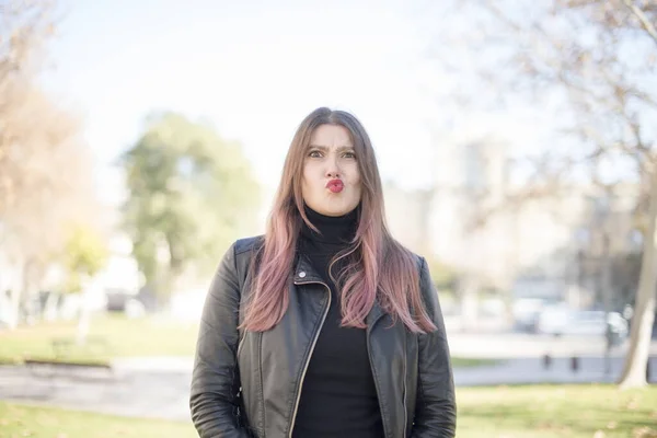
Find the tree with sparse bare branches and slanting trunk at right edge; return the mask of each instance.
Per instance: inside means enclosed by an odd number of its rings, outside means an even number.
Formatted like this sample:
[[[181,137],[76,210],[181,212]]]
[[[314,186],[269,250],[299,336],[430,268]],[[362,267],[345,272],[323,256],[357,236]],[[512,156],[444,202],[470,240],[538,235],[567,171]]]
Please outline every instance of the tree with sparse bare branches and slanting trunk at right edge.
[[[643,186],[644,251],[621,387],[646,384],[657,261],[657,4],[633,0],[472,0],[472,70],[495,85],[487,103],[529,97],[557,115],[561,136],[539,154],[538,178]],[[472,28],[469,28],[472,31]]]

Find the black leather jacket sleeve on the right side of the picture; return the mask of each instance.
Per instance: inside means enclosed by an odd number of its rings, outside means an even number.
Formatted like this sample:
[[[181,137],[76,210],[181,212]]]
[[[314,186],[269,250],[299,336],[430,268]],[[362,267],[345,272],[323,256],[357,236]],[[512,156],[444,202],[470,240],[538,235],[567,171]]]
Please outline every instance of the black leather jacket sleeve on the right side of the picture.
[[[438,293],[425,260],[420,291],[436,331],[418,337],[418,382],[413,438],[453,438],[457,427],[454,383]]]

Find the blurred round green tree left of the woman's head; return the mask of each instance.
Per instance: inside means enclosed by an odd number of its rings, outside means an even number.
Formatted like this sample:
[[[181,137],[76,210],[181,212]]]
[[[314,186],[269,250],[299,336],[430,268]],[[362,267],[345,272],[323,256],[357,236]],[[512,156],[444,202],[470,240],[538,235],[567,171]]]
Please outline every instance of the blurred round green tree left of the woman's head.
[[[258,187],[250,164],[211,127],[154,115],[120,161],[134,255],[162,301],[183,274],[207,272],[232,240],[253,230]]]

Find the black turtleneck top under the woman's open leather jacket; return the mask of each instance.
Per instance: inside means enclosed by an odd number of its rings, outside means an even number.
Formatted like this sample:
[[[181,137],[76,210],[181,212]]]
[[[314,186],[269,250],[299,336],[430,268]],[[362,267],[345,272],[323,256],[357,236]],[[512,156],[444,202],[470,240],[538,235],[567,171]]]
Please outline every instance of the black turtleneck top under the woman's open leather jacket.
[[[339,291],[328,276],[331,260],[355,235],[358,211],[328,217],[306,207],[306,214],[321,234],[303,223],[299,252],[331,288],[331,307],[308,365],[293,437],[381,438],[383,425],[366,331],[339,326]],[[334,277],[341,265],[334,264]]]

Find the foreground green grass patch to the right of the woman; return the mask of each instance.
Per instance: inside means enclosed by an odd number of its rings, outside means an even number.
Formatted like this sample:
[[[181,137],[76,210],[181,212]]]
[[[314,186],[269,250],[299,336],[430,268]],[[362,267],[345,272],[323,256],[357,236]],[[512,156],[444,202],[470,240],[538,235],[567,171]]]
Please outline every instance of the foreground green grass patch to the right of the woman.
[[[459,438],[657,437],[657,387],[468,388],[457,400]]]

